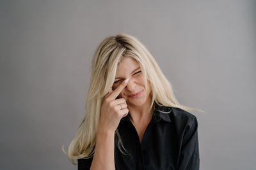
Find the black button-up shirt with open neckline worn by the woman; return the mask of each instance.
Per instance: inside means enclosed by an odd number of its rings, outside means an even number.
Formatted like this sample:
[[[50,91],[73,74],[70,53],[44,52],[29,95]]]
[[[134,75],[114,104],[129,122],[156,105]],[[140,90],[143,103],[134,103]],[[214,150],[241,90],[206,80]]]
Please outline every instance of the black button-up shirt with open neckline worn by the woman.
[[[156,104],[156,103],[155,103]],[[128,115],[120,120],[118,131],[129,155],[115,145],[115,167],[119,169],[199,169],[198,122],[195,115],[155,105],[153,117],[142,142]],[[90,169],[91,159],[78,159],[78,170]]]

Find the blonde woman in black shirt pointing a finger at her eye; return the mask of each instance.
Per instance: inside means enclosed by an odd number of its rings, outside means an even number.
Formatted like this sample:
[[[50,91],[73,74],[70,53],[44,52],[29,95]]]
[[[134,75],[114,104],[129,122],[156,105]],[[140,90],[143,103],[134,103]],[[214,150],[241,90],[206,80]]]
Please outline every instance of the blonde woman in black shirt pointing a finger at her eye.
[[[110,89],[110,90],[109,90]],[[138,39],[105,38],[95,51],[86,114],[68,157],[78,169],[199,169],[195,110]]]

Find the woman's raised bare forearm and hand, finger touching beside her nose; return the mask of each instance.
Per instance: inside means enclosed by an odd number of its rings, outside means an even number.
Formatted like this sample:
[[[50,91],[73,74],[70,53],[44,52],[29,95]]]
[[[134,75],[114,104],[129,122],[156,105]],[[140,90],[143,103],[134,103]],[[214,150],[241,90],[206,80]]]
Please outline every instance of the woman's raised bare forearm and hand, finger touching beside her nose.
[[[116,97],[122,92],[127,82],[128,79],[124,80],[114,91],[110,90],[104,97],[91,170],[115,170],[115,131],[121,118],[129,113],[125,99],[116,99]]]

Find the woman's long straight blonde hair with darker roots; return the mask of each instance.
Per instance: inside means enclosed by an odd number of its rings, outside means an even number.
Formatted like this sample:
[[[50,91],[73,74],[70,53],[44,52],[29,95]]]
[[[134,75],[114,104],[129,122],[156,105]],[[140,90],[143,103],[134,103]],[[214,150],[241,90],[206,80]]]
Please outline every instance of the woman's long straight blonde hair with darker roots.
[[[160,106],[170,106],[186,111],[198,110],[179,104],[173,94],[171,83],[162,73],[154,57],[138,39],[129,34],[117,34],[105,38],[93,56],[92,76],[85,103],[86,114],[77,129],[75,138],[68,146],[68,152],[65,152],[62,147],[72,164],[76,164],[74,160],[93,156],[102,100],[113,86],[116,68],[124,56],[137,60],[145,81],[150,82],[152,102],[149,110],[154,102]],[[118,149],[125,153],[118,130],[115,132],[115,137]]]

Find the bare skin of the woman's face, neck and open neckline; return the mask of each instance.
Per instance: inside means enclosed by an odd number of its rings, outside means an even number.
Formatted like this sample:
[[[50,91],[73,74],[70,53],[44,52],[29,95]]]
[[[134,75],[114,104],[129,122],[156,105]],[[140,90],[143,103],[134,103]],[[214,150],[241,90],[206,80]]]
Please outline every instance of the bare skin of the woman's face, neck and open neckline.
[[[146,81],[147,83],[145,84],[140,64],[137,60],[128,56],[125,56],[121,62],[118,63],[113,89],[116,89],[125,78],[129,78],[129,82],[120,92],[118,97],[125,99],[129,110],[129,118],[136,128],[141,142],[145,129],[152,118],[153,110],[150,110],[150,113],[148,114],[148,108],[150,107],[151,102],[151,88],[149,81]],[[147,90],[146,86],[148,87]],[[138,92],[141,92],[139,97],[129,97],[129,95]]]

